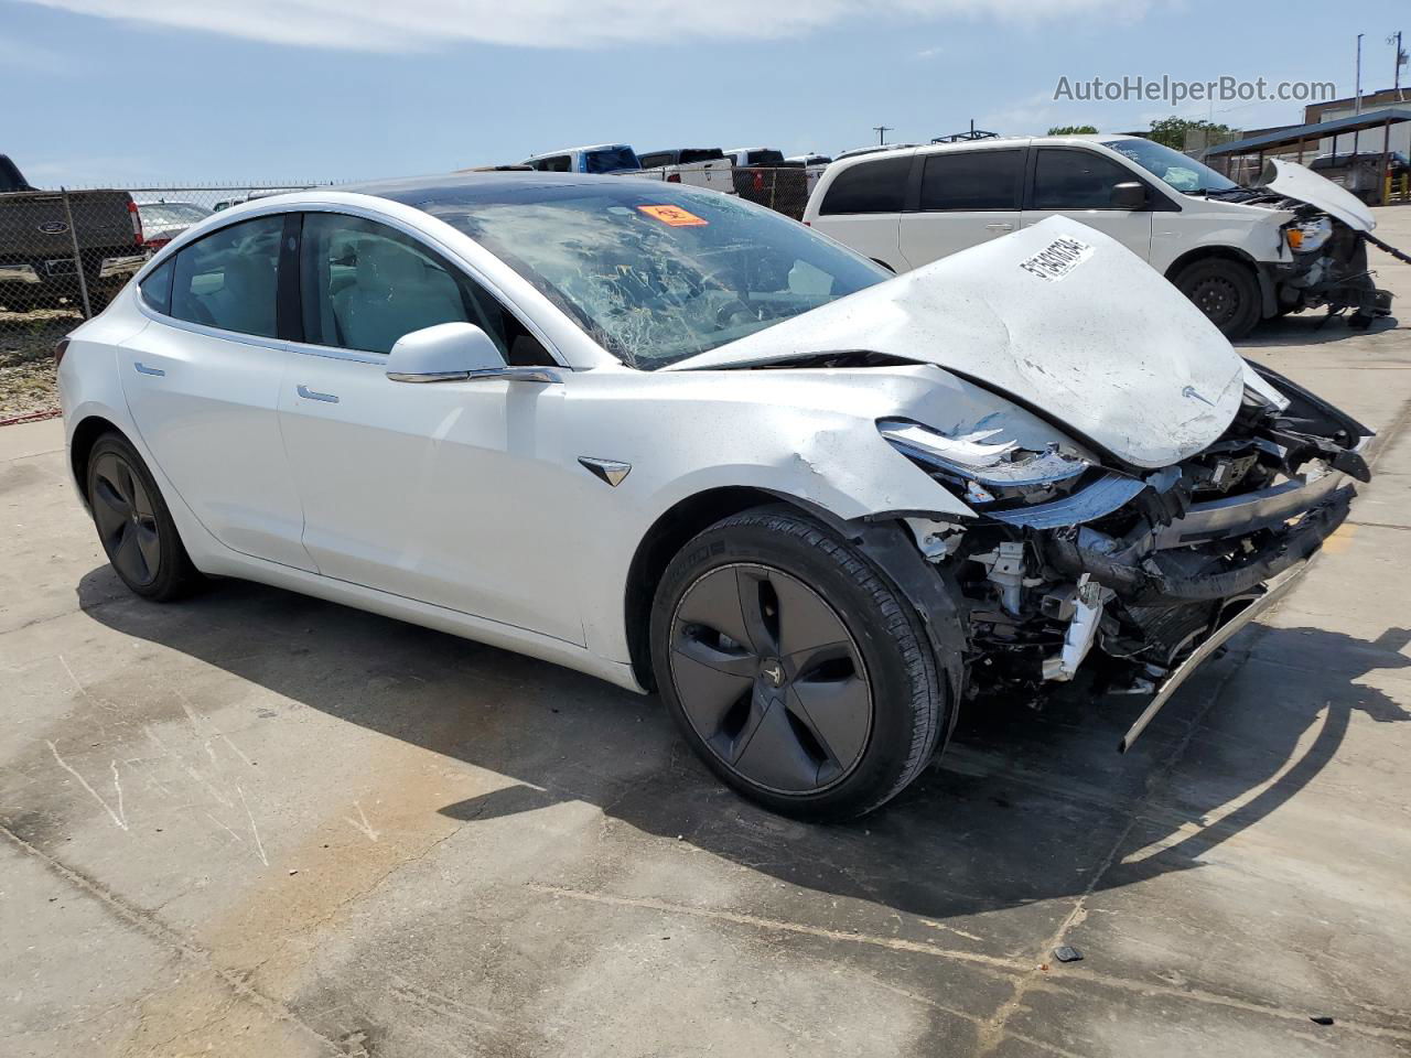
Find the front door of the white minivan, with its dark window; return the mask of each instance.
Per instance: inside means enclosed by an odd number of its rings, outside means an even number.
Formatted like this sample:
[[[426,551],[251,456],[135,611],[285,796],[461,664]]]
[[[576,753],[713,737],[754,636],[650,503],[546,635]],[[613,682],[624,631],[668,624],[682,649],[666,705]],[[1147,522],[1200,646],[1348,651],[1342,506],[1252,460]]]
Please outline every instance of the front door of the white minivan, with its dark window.
[[[1024,227],[1062,216],[1112,236],[1143,261],[1151,258],[1151,206],[1168,199],[1115,158],[1086,147],[1038,147],[1024,202]],[[1118,209],[1112,189],[1119,183],[1147,186],[1147,209]]]

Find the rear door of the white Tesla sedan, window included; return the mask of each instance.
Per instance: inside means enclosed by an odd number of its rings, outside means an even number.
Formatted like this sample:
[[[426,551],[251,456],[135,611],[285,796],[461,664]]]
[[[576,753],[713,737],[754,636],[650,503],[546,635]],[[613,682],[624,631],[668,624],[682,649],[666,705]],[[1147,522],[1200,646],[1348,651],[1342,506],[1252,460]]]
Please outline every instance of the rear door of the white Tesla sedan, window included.
[[[286,216],[223,227],[148,275],[152,322],[119,365],[138,433],[212,536],[312,571],[279,434],[292,355],[278,337],[279,284],[293,267]]]

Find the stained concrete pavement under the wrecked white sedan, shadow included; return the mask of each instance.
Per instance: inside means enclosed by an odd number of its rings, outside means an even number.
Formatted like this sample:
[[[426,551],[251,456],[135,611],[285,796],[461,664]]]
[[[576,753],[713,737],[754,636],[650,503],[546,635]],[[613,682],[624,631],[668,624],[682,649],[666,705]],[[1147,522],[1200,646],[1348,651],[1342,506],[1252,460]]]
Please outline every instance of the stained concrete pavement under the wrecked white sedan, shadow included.
[[[1249,351],[1381,430],[1292,597],[1130,755],[1140,703],[972,712],[832,828],[574,673],[248,584],[144,604],[59,425],[0,430],[0,1052],[1411,1054],[1411,332]]]

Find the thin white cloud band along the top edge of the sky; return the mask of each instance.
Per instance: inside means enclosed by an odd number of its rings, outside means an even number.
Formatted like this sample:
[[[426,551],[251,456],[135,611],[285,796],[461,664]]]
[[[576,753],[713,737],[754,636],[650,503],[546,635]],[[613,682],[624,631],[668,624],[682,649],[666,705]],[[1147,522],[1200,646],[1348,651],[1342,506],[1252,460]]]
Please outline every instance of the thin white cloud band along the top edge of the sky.
[[[24,0],[102,18],[308,48],[422,51],[457,41],[588,48],[689,38],[789,37],[852,18],[1034,24],[1146,0]]]

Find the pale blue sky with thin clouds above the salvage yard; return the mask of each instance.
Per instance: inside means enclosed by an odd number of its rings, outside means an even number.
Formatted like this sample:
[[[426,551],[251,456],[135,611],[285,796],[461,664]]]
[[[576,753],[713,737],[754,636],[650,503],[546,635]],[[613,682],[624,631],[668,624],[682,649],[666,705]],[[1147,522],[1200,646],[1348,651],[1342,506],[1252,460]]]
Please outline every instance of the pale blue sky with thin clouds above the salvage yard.
[[[1404,0],[0,0],[0,152],[35,183],[337,181],[564,145],[835,152],[1144,128],[1060,76],[1391,83]],[[1411,45],[1408,45],[1411,47]],[[1408,73],[1403,72],[1403,80]],[[16,92],[21,86],[21,93]],[[1185,104],[1187,116],[1211,107]],[[1235,127],[1295,103],[1215,103]]]

